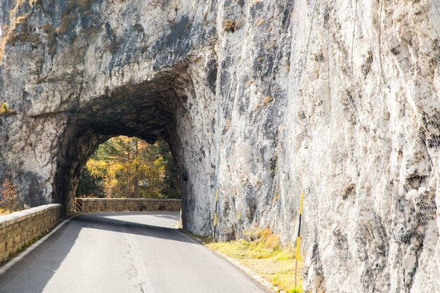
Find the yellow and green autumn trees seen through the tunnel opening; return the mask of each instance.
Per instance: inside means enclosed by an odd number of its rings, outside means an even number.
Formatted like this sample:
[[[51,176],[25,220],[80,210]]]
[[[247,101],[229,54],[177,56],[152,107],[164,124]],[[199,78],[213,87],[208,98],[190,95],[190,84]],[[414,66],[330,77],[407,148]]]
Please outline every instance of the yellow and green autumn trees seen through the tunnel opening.
[[[180,198],[169,146],[117,136],[101,144],[79,178],[77,197]]]

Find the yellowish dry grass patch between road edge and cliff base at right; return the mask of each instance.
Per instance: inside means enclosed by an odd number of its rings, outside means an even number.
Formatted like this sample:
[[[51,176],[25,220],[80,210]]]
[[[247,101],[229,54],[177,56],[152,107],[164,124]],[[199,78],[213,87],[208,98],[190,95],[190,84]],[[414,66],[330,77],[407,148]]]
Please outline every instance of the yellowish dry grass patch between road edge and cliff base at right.
[[[302,280],[298,276],[295,288],[295,255],[291,247],[280,245],[280,236],[269,229],[251,231],[246,240],[230,242],[209,242],[207,247],[226,254],[239,261],[243,266],[265,278],[285,292],[302,292]],[[299,259],[298,272],[303,266]]]

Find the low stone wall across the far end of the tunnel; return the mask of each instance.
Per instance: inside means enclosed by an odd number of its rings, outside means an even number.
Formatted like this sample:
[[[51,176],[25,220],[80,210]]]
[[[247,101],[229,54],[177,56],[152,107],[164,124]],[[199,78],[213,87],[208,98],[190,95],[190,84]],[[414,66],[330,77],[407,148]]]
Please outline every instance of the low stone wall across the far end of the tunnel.
[[[150,198],[77,198],[77,211],[180,211],[181,200],[157,200]]]

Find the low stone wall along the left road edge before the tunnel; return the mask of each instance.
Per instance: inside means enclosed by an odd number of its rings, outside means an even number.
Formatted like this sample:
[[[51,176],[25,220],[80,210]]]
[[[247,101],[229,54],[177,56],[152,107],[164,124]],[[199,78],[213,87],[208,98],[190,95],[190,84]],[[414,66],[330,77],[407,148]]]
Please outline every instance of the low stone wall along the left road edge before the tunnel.
[[[61,204],[46,204],[0,216],[0,261],[57,226],[60,219]]]

